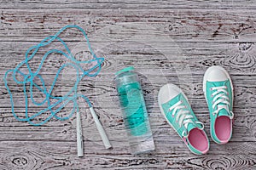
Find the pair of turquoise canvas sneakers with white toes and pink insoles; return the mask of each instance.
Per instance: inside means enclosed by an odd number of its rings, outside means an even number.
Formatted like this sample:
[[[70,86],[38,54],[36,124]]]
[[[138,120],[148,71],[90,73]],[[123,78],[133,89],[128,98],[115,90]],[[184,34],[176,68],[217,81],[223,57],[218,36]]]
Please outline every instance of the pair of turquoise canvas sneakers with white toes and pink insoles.
[[[211,136],[217,144],[227,143],[232,135],[233,86],[227,71],[221,66],[207,69],[203,91],[211,119]],[[158,94],[160,111],[176,130],[183,142],[195,154],[209,150],[204,125],[198,121],[183,91],[174,84],[166,84]]]

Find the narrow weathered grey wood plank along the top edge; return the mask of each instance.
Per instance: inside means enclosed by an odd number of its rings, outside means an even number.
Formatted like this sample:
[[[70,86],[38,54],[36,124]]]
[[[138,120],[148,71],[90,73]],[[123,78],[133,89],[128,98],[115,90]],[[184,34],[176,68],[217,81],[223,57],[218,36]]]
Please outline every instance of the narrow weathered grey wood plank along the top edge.
[[[90,8],[96,8],[96,9],[148,9],[152,10],[155,8],[158,9],[207,9],[207,10],[218,10],[218,9],[231,9],[231,10],[242,10],[242,9],[255,9],[256,3],[254,1],[231,1],[231,0],[224,0],[224,1],[198,1],[198,0],[178,0],[178,1],[135,1],[130,0],[128,2],[124,2],[122,0],[115,0],[115,1],[108,1],[103,0],[100,2],[95,1],[22,1],[22,2],[16,2],[15,0],[12,1],[6,1],[2,0],[1,7],[0,8],[7,8],[7,9],[15,9],[15,8],[24,8],[24,9],[68,9],[68,8],[74,8],[74,9],[90,9]]]

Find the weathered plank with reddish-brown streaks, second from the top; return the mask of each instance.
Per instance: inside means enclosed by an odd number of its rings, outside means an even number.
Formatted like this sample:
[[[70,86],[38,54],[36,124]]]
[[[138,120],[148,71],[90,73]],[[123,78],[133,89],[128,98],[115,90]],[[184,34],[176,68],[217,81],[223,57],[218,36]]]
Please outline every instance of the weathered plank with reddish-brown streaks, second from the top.
[[[113,39],[128,37],[134,31],[143,32],[143,29],[149,33],[154,27],[164,31],[161,32],[162,36],[169,35],[178,41],[251,42],[255,41],[254,15],[255,10],[248,10],[247,13],[237,12],[237,10],[209,12],[189,9],[140,11],[67,9],[67,11],[56,10],[55,13],[50,10],[2,10],[0,41],[40,41],[43,37],[54,34],[62,26],[75,24],[84,26],[88,33],[96,31],[97,36],[101,36],[99,37],[101,42],[106,37]],[[124,23],[128,28],[122,26]],[[137,29],[138,26],[129,28],[129,24],[139,24],[141,29]],[[121,26],[119,26],[120,29],[108,30],[109,27],[113,28],[113,25]],[[66,36],[72,36],[73,41],[81,40],[81,37],[75,37],[76,33],[76,31],[69,31]],[[91,41],[94,40],[91,39]]]

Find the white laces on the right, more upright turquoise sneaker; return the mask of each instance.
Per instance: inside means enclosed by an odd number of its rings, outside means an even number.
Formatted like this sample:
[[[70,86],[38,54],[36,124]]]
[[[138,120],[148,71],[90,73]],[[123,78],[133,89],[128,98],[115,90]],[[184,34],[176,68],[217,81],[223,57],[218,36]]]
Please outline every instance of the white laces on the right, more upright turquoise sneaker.
[[[233,119],[233,112],[230,111],[230,99],[228,97],[228,91],[226,86],[219,86],[219,87],[214,87],[210,88],[211,91],[216,90],[215,92],[212,93],[212,109],[214,110],[215,107],[217,106],[217,110],[213,111],[213,116],[218,114],[218,112],[222,109],[225,109],[230,113],[230,119]],[[224,104],[224,105],[218,105],[218,104]]]

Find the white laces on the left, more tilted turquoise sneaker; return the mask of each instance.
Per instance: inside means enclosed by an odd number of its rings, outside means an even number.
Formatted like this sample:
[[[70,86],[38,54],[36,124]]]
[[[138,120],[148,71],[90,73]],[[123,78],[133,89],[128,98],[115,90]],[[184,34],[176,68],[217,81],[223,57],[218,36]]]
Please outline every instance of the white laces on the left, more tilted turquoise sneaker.
[[[179,127],[182,127],[182,125],[185,127],[185,131],[183,131],[183,137],[188,137],[188,126],[189,123],[193,123],[193,116],[189,114],[189,110],[185,105],[182,105],[183,101],[180,100],[178,101],[176,104],[172,105],[168,111],[172,111],[172,117],[175,117],[175,121],[178,123]],[[202,122],[196,122],[198,124],[201,124],[201,128],[199,129],[203,129],[204,125]],[[196,126],[197,127],[197,126]]]

